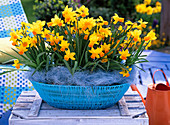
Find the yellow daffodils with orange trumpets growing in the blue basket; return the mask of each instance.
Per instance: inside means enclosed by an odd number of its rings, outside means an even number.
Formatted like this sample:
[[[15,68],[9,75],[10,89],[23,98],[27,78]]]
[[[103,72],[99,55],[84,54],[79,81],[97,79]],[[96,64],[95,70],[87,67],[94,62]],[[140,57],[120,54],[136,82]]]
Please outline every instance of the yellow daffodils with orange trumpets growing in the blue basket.
[[[93,69],[96,66],[110,70],[115,68],[111,65],[116,63],[122,68],[120,74],[128,77],[132,70],[129,67],[140,60],[139,52],[151,46],[150,41],[156,39],[152,30],[141,38],[147,25],[142,19],[124,23],[124,18],[115,13],[109,23],[101,16],[97,19],[87,17],[89,13],[85,6],[75,11],[67,6],[62,15],[64,20],[55,15],[46,28],[46,22],[38,20],[33,24],[22,23],[20,30],[12,30],[12,45],[16,46],[20,55],[25,54],[31,60],[27,64],[47,68],[52,59],[50,66],[65,65],[69,70]],[[39,59],[42,55],[43,58]],[[15,66],[19,67],[18,61]]]

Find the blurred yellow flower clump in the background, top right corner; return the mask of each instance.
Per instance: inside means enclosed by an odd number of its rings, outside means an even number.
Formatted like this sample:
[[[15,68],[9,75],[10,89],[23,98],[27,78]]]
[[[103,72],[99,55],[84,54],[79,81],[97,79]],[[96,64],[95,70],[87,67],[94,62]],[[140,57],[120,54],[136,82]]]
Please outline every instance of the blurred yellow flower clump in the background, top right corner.
[[[151,0],[144,0],[142,4],[136,5],[136,11],[147,15],[161,12],[161,3],[159,1],[156,2],[155,7],[150,6],[150,4]]]

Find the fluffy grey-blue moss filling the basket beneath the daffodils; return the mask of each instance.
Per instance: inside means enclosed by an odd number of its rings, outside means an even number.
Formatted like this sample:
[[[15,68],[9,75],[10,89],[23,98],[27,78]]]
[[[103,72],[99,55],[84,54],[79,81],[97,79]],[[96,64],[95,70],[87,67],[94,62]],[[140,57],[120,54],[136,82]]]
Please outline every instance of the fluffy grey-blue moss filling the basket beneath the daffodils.
[[[48,72],[37,71],[33,76],[34,69],[30,69],[30,72],[26,73],[27,78],[37,82],[57,84],[57,85],[78,85],[78,86],[107,86],[113,84],[123,83],[136,83],[137,68],[132,66],[130,77],[123,77],[119,74],[120,71],[106,72],[103,70],[97,70],[95,72],[82,71],[75,72],[72,76],[66,67],[58,66],[51,68]]]

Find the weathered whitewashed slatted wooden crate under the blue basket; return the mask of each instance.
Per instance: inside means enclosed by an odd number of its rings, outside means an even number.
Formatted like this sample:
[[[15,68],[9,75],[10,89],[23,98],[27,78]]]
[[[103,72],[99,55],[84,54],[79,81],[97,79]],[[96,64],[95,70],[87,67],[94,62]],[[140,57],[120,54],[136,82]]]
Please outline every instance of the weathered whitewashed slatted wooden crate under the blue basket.
[[[104,110],[63,110],[43,102],[36,91],[22,92],[9,118],[10,125],[148,125],[139,95],[128,92]]]

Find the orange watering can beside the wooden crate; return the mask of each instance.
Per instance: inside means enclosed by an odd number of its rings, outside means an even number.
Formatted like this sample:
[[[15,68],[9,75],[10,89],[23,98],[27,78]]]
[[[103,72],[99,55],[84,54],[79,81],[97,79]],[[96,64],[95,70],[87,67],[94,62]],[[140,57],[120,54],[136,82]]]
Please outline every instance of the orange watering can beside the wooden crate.
[[[155,72],[157,71],[163,72],[162,70],[156,70]],[[163,74],[166,79],[166,85],[162,83],[155,84],[153,80],[153,84],[148,85],[146,101],[136,85],[131,85],[132,90],[137,91],[142,98],[149,116],[149,125],[170,125],[170,87],[164,72]]]

